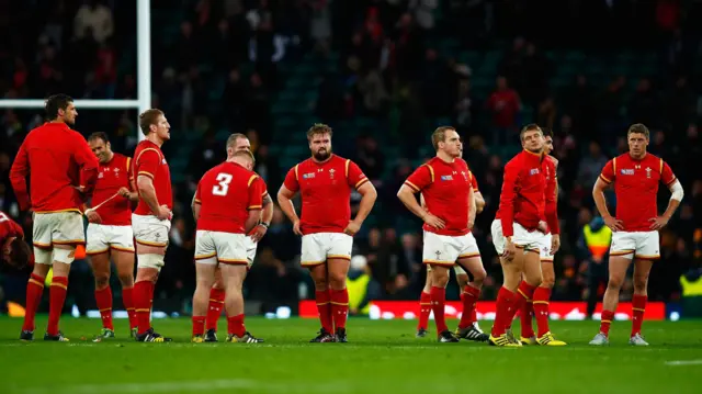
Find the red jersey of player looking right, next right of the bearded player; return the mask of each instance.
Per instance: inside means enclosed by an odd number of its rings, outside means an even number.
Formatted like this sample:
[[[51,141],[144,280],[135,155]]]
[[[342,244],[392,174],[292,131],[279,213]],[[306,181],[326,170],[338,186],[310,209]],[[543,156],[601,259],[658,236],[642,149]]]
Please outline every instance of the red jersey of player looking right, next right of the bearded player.
[[[405,184],[424,196],[427,210],[445,223],[444,228],[434,228],[424,223],[423,229],[449,236],[461,236],[468,229],[468,192],[473,173],[465,160],[456,158],[446,162],[434,157],[420,166]]]

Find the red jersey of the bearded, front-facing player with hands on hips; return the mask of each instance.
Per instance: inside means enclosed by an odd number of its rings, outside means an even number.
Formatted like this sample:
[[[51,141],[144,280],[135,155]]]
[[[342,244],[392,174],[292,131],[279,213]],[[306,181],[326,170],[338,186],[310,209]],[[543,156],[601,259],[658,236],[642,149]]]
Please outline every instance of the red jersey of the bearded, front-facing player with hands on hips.
[[[284,184],[287,190],[301,193],[301,232],[343,233],[351,219],[351,189],[367,181],[355,162],[337,155],[324,162],[309,158],[293,167]]]

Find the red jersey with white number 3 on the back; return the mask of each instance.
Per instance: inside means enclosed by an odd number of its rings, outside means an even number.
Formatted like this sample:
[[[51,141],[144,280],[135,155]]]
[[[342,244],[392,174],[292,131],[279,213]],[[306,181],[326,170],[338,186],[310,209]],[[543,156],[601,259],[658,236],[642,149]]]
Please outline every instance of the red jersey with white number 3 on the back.
[[[195,199],[200,202],[200,217],[197,229],[245,233],[245,223],[249,210],[260,210],[261,206],[250,206],[250,196],[264,191],[257,188],[262,180],[242,166],[225,161],[202,177],[197,184]]]

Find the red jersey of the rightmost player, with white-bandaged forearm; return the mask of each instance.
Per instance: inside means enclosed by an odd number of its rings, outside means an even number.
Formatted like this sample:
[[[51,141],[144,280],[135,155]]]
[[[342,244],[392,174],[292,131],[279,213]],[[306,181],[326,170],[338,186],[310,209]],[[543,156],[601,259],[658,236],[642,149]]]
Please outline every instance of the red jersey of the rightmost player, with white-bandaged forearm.
[[[608,161],[600,179],[614,182],[616,218],[625,232],[650,232],[648,219],[658,216],[658,183],[670,185],[676,176],[661,158],[646,154],[635,160],[629,153]]]

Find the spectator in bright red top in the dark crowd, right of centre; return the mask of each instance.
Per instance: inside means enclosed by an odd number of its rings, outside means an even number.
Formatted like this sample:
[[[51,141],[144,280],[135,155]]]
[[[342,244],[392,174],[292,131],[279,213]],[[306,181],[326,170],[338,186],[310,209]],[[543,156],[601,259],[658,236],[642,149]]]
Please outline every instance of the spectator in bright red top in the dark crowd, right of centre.
[[[509,133],[514,132],[517,114],[521,110],[519,94],[507,85],[507,78],[497,77],[497,89],[487,100],[487,109],[492,113],[492,145],[507,142]]]

